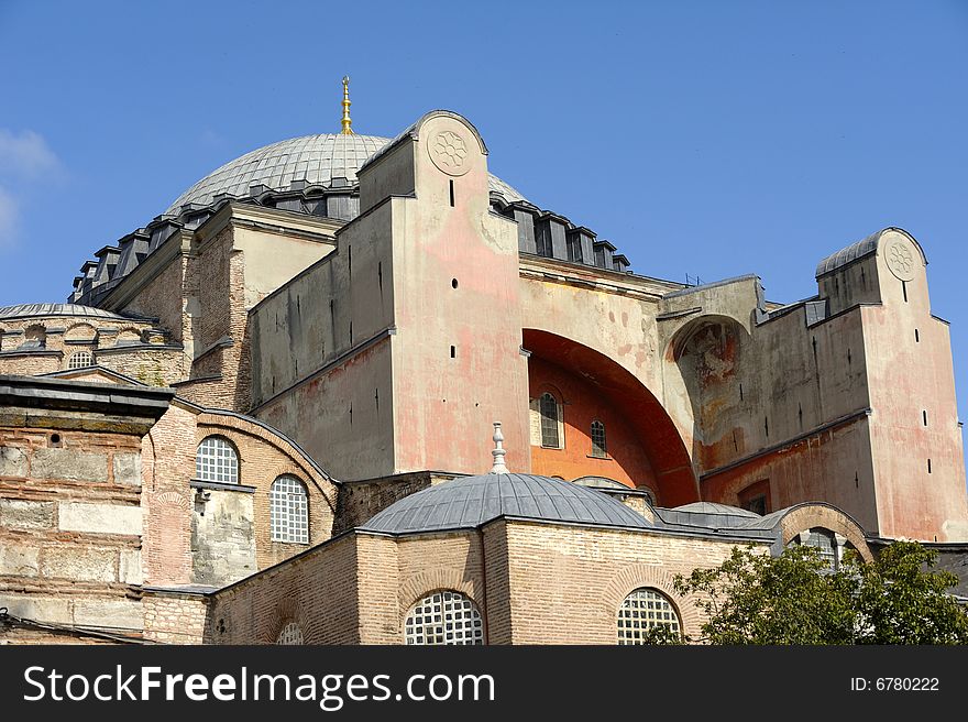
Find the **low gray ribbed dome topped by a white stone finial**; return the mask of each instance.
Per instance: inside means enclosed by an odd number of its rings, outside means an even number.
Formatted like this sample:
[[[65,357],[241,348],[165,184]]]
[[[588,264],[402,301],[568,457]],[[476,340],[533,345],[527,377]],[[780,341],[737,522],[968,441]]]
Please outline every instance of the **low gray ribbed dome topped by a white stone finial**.
[[[464,477],[405,496],[361,528],[405,534],[476,528],[499,516],[651,528],[607,494],[560,479],[501,473]]]

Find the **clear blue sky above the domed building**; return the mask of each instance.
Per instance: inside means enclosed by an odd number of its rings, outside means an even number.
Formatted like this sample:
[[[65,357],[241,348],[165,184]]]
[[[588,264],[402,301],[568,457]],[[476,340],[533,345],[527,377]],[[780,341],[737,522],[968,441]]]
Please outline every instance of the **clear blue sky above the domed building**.
[[[968,2],[0,0],[0,305],[80,264],[222,163],[469,117],[491,169],[646,275],[817,261],[887,226],[928,256],[968,417]]]

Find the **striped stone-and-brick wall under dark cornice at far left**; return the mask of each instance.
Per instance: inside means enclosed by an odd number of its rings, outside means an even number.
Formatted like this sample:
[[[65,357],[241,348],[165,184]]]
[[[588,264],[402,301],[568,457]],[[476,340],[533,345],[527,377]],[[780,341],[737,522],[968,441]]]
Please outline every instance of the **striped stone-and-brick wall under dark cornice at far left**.
[[[0,428],[0,606],[142,628],[141,439]]]

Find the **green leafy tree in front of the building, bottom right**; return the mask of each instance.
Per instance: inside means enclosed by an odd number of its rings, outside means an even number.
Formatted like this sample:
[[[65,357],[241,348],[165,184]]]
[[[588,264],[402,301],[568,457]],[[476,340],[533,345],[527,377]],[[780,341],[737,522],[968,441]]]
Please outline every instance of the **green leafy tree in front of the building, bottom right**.
[[[935,551],[895,542],[870,564],[845,557],[833,572],[809,546],[778,557],[736,547],[718,567],[676,577],[675,590],[706,612],[698,641],[710,644],[968,643],[968,613],[947,593],[958,579],[931,569]]]

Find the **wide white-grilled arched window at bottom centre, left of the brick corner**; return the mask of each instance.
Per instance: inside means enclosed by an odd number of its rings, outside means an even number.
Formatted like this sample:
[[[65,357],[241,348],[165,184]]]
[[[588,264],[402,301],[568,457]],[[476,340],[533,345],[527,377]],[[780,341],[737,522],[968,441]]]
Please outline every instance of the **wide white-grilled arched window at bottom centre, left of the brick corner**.
[[[414,605],[404,633],[407,644],[484,644],[484,621],[469,597],[441,590]]]

